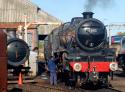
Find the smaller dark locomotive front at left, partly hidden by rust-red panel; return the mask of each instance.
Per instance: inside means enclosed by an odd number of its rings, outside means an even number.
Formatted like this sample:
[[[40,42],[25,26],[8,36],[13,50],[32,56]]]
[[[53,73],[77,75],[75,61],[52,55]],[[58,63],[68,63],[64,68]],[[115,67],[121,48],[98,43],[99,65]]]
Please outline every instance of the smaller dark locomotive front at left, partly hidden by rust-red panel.
[[[8,70],[11,71],[11,74],[18,76],[22,69],[30,69],[30,67],[24,66],[29,58],[29,47],[24,40],[17,38],[15,29],[7,29],[6,34]]]

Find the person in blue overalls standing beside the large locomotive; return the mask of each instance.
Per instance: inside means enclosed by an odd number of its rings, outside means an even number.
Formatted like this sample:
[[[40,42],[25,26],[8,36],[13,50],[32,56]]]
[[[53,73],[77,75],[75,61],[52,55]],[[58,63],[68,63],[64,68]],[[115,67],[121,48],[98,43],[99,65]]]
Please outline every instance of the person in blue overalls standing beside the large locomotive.
[[[51,56],[48,60],[48,70],[50,72],[50,84],[57,85],[57,74],[56,74],[56,59]]]

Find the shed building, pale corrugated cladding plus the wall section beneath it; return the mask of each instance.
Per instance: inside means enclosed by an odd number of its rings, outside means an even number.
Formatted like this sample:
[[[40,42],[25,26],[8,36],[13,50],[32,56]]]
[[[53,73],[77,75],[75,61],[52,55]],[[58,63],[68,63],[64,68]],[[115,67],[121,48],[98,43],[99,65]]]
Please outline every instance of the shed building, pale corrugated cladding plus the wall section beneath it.
[[[37,34],[48,34],[58,25],[44,23],[61,23],[57,18],[40,9],[31,0],[0,0],[0,29],[14,28],[17,34],[27,30],[27,43],[32,50],[37,47]],[[43,24],[42,24],[43,23]],[[25,27],[27,26],[27,29]],[[25,35],[25,32],[24,32]],[[22,39],[26,39],[22,36]]]

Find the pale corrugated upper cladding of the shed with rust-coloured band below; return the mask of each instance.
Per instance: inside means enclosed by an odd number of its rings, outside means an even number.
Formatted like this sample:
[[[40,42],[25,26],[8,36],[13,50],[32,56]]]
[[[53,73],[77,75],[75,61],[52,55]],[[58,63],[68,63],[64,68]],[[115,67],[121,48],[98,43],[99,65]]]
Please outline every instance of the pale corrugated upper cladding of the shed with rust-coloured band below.
[[[31,0],[0,0],[0,28],[18,28],[27,22],[61,22]],[[39,34],[48,34],[58,25],[40,25]],[[36,26],[34,26],[36,27]]]

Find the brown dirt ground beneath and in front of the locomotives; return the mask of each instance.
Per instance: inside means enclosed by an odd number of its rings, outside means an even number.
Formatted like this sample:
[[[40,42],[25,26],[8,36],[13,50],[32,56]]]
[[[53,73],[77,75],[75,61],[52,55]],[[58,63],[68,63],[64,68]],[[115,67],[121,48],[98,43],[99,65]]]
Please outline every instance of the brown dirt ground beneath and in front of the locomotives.
[[[125,73],[116,72],[114,79],[110,80],[111,88],[75,88],[69,89],[63,83],[57,86],[49,85],[48,80],[43,80],[41,76],[35,79],[36,83],[23,84],[19,87],[17,84],[8,84],[8,92],[125,92]]]

